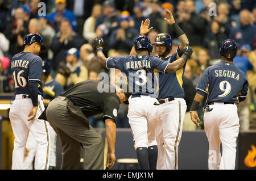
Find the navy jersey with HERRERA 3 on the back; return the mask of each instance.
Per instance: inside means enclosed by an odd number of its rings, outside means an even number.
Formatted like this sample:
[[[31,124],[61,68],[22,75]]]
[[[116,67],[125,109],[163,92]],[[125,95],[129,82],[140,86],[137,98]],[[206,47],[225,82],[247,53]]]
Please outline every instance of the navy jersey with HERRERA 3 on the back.
[[[109,57],[106,62],[107,68],[121,70],[127,77],[130,87],[133,87],[133,95],[151,95],[157,97],[155,71],[165,71],[168,62],[158,57],[145,55]]]

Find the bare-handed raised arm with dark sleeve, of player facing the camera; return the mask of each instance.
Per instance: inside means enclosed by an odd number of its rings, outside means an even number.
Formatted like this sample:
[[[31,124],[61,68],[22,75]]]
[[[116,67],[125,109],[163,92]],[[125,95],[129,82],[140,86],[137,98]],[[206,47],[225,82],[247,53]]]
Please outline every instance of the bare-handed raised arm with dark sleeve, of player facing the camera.
[[[189,45],[188,37],[185,35],[183,30],[177,25],[175,22],[174,16],[172,15],[171,11],[164,10],[166,14],[168,15],[168,19],[164,18],[168,24],[170,24],[172,27],[174,27],[174,31],[176,32],[176,35],[180,41],[179,49],[182,52],[182,50]]]

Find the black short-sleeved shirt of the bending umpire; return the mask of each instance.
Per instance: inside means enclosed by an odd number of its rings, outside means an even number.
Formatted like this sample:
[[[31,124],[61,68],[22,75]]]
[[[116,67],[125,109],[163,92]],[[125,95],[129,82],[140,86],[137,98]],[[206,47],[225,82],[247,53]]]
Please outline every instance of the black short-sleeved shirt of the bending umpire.
[[[107,91],[98,91],[102,86],[107,87]],[[78,116],[77,118],[83,119],[83,122],[85,122],[86,125],[88,125],[87,117],[102,112],[104,113],[104,121],[109,118],[113,120],[117,119],[120,99],[115,93],[114,86],[89,80],[76,83],[62,92],[59,96],[63,96],[69,100],[69,111],[71,111],[73,115]],[[47,120],[46,110],[40,115],[39,119]]]

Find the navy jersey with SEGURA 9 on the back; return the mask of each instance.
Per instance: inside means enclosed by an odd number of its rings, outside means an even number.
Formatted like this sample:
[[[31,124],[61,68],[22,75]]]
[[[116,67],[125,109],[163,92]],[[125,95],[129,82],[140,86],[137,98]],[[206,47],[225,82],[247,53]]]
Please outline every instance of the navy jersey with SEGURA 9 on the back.
[[[207,103],[239,103],[239,98],[247,96],[248,81],[236,65],[218,62],[204,71],[196,90],[207,95]]]

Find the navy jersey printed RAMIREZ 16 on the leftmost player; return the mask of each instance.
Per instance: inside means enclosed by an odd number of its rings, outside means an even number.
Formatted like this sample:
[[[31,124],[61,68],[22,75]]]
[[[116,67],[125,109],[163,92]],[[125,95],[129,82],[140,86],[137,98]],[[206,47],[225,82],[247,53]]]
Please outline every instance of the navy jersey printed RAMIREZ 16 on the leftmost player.
[[[40,68],[41,66],[41,68]],[[38,94],[43,96],[41,86],[42,58],[30,52],[20,52],[11,60],[15,95],[29,94],[28,81],[38,81]]]

